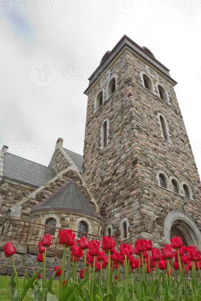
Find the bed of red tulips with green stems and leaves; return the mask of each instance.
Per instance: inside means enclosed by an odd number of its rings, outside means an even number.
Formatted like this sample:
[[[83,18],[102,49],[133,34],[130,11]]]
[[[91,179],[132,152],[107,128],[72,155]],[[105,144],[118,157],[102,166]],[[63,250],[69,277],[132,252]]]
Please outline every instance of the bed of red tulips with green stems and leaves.
[[[134,249],[130,244],[123,243],[120,252],[117,252],[112,236],[103,237],[101,251],[100,241],[88,241],[85,236],[75,241],[75,233],[71,230],[60,230],[62,264],[53,268],[52,276],[47,281],[45,259],[51,240],[52,236],[45,234],[38,243],[38,271],[31,278],[25,272],[22,288],[12,257],[15,247],[11,242],[3,246],[5,256],[10,257],[14,269],[9,300],[23,300],[30,289],[32,299],[37,301],[201,300],[200,252],[194,246],[183,246],[180,237],[172,238],[171,244],[165,244],[161,250],[152,248],[151,240],[139,239]],[[82,256],[84,268],[77,277],[77,262]],[[124,271],[122,278],[120,266]],[[64,275],[66,267],[67,276]],[[191,272],[191,282],[187,281],[188,270]],[[52,289],[55,277],[59,279],[57,295]]]

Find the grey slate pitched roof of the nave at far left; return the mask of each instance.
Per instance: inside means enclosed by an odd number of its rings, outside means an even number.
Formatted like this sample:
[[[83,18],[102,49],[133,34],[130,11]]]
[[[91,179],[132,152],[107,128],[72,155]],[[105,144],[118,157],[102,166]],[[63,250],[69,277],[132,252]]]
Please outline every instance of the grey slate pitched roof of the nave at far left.
[[[6,153],[3,176],[40,187],[56,173],[52,168]]]

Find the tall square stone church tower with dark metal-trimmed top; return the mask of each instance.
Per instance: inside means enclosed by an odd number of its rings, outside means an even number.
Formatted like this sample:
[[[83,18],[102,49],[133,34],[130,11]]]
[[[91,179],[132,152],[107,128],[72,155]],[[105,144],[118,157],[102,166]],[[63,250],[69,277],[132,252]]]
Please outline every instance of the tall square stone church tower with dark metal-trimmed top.
[[[89,78],[83,178],[106,235],[201,248],[200,179],[169,69],[127,36]]]

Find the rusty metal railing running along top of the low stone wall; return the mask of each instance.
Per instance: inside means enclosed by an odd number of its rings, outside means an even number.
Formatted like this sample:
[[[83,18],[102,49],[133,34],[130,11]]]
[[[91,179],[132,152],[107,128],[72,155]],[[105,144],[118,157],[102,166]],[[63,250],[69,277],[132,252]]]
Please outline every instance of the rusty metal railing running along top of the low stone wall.
[[[32,221],[18,220],[10,217],[0,216],[0,219],[0,240],[5,242],[15,242],[15,244],[37,244],[40,240],[42,240],[44,233],[50,233],[53,237],[51,246],[58,248],[60,247],[58,244],[59,230],[66,229]],[[76,239],[79,236],[85,235],[88,240],[102,240],[102,236],[93,233],[84,233],[74,230],[73,233],[75,233]],[[118,239],[114,239],[114,241],[116,242],[117,251],[119,250],[121,243],[126,242],[132,244],[132,242]]]

